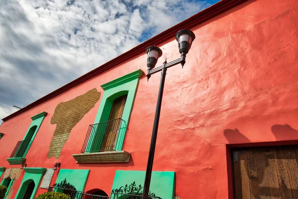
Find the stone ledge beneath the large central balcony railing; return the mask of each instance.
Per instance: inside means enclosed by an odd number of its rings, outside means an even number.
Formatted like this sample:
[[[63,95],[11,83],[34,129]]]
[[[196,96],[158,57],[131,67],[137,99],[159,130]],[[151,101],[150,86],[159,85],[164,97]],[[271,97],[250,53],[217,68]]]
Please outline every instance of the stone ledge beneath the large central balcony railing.
[[[76,163],[124,163],[130,159],[130,153],[127,151],[73,154],[73,156]]]

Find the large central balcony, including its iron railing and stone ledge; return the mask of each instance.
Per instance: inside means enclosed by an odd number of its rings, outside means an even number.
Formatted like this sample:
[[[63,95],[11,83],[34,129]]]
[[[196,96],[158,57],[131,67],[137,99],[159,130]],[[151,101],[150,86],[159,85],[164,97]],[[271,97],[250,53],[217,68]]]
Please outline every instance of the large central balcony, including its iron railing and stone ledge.
[[[119,132],[125,130],[121,118],[89,125],[82,154],[73,154],[76,163],[129,162],[130,153],[115,150]]]

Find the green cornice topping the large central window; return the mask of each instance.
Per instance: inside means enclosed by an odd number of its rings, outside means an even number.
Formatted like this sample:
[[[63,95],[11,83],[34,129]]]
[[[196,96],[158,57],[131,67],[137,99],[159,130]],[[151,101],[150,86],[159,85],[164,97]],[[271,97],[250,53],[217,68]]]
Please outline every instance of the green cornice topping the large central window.
[[[139,69],[139,70],[129,73],[125,76],[122,76],[122,77],[112,80],[108,83],[105,83],[105,84],[101,85],[100,87],[105,91],[107,89],[122,85],[126,82],[130,82],[134,79],[140,79],[140,77],[143,75],[143,73],[144,73],[144,71]]]

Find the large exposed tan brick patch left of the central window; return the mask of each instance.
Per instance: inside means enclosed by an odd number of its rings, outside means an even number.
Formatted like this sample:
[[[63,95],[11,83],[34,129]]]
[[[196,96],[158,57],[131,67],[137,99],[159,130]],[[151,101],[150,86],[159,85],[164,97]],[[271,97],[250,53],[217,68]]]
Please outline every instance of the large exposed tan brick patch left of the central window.
[[[62,147],[68,140],[71,130],[94,107],[99,98],[100,92],[92,89],[84,95],[57,105],[51,118],[51,124],[57,124],[57,126],[50,144],[48,158],[59,158]]]

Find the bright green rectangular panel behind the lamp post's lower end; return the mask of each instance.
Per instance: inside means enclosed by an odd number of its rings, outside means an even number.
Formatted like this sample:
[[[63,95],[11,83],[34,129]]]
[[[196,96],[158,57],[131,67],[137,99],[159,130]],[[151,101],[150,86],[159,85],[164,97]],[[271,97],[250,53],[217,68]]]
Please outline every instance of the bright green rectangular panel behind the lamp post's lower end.
[[[145,181],[145,171],[121,171],[117,170],[112,186],[113,189],[119,189],[121,186],[136,185],[143,187]],[[175,172],[170,171],[153,171],[151,175],[150,192],[156,194],[162,199],[173,199],[175,188]],[[115,196],[116,197],[116,196]],[[110,198],[113,196],[111,194]]]

